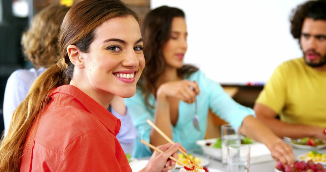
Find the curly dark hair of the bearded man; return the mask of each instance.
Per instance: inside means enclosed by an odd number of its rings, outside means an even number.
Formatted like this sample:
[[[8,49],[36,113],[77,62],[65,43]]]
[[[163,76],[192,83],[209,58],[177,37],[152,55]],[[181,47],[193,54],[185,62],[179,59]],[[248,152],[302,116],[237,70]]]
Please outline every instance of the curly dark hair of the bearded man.
[[[302,25],[305,18],[326,20],[326,0],[308,1],[292,10],[292,15],[290,17],[290,30],[292,36],[299,39],[299,42]]]

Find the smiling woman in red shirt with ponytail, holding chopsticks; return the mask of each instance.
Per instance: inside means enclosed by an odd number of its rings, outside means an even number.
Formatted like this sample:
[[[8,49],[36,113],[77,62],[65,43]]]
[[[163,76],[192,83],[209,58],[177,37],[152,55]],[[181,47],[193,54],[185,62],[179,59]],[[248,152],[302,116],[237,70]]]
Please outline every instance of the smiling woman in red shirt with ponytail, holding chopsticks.
[[[35,80],[1,140],[0,171],[131,171],[115,137],[120,120],[107,108],[115,95],[135,94],[142,44],[139,19],[120,0],[72,7],[57,62]],[[159,146],[165,152],[154,152],[142,171],[173,168],[168,158],[179,147]]]

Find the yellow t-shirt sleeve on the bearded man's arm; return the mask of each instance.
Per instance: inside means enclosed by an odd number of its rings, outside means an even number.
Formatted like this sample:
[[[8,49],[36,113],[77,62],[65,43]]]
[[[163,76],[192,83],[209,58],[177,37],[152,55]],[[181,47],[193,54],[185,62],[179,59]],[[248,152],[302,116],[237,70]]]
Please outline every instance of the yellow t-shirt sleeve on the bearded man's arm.
[[[279,113],[286,103],[286,79],[288,66],[286,63],[278,66],[264,89],[259,93],[256,103],[263,104]]]

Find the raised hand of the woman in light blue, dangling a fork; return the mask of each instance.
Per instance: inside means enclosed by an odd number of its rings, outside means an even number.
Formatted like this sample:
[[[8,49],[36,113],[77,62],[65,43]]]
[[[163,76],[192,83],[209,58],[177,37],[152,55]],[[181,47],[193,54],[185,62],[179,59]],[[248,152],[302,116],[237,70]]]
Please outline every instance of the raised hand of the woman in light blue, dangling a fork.
[[[186,103],[196,101],[196,95],[199,94],[199,86],[195,81],[181,80],[162,84],[158,89],[156,96],[175,97]]]

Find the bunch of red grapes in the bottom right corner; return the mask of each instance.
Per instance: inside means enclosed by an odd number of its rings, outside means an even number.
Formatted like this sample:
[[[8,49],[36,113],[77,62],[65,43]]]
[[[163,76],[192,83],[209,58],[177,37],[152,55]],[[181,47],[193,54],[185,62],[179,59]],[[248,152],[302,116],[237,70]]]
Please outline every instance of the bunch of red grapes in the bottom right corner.
[[[294,165],[283,166],[279,161],[276,163],[276,169],[284,172],[326,172],[326,169],[320,163],[315,164],[312,160],[308,162],[296,161]]]

